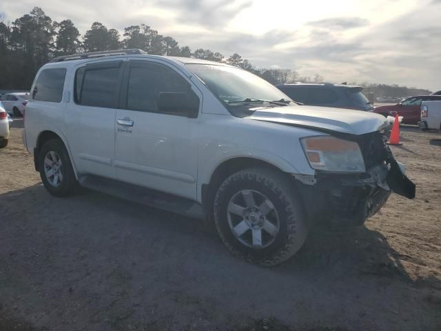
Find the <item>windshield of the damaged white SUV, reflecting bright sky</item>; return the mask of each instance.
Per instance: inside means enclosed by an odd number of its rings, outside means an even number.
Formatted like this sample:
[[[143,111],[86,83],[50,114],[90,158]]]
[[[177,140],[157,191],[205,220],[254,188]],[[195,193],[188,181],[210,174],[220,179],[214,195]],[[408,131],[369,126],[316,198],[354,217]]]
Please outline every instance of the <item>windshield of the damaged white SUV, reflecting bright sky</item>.
[[[226,103],[289,100],[278,88],[245,70],[210,64],[187,64],[187,67]]]

